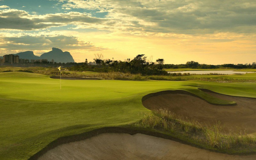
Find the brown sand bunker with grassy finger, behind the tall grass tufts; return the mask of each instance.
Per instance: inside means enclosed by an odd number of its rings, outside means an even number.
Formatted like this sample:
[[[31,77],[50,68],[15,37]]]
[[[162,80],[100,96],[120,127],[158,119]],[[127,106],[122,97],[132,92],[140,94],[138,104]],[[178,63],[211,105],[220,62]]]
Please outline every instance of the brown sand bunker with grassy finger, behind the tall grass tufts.
[[[210,104],[186,93],[181,94],[175,91],[158,93],[155,93],[156,96],[144,98],[143,105],[150,110],[165,108],[177,115],[194,118],[207,126],[212,126],[216,124],[216,121],[220,121],[222,125],[225,125],[226,133],[229,129],[246,130],[247,133],[256,132],[256,98],[222,95],[208,90],[207,94],[209,95],[237,103],[234,106],[221,106]]]

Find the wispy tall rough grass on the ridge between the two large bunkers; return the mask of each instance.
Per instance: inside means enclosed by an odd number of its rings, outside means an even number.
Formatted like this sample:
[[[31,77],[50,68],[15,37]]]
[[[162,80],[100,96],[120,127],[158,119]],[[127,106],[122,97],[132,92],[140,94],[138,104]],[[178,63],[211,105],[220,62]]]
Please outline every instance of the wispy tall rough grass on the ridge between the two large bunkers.
[[[248,135],[240,130],[225,134],[220,121],[213,126],[204,126],[195,119],[180,117],[171,111],[160,109],[133,125],[170,132],[174,136],[181,135],[180,139],[191,139],[194,144],[224,153],[256,152],[256,134]]]

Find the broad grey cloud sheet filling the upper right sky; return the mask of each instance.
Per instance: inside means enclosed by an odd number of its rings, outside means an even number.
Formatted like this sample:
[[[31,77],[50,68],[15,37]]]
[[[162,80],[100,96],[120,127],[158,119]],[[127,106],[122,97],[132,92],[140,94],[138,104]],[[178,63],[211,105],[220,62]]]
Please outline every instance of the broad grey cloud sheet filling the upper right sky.
[[[64,7],[107,11],[122,31],[205,34],[256,31],[256,4],[253,0],[60,0]],[[82,26],[79,26],[81,28]],[[110,27],[110,26],[106,26]],[[110,27],[111,28],[111,27]]]

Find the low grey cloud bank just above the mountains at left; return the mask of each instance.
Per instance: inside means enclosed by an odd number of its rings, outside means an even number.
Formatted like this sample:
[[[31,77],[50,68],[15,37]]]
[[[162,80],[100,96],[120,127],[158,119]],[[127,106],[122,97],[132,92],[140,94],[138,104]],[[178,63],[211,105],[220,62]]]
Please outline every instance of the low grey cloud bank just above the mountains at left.
[[[79,41],[77,37],[65,35],[18,35],[16,37],[0,36],[0,48],[5,50],[48,50],[57,47],[63,50],[103,50],[92,42]]]

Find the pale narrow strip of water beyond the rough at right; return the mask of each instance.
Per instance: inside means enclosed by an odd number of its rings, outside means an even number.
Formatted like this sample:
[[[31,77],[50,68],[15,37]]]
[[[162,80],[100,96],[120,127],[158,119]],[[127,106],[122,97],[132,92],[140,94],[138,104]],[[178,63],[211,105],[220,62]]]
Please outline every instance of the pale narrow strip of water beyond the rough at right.
[[[245,74],[245,73],[255,73],[255,72],[238,72],[238,71],[175,71],[175,72],[168,72],[168,73],[190,73],[190,74]]]

